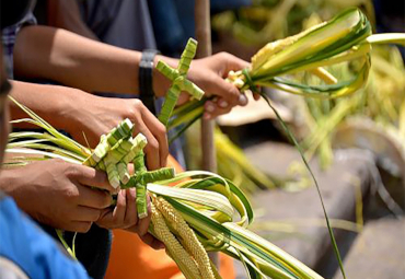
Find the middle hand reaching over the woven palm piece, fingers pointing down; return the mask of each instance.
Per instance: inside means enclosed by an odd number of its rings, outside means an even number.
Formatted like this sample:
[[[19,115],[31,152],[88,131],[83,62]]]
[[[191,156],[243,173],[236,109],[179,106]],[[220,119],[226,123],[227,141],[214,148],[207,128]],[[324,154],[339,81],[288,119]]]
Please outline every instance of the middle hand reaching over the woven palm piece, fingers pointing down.
[[[92,148],[125,118],[134,124],[134,135],[141,132],[147,137],[148,144],[143,149],[148,170],[157,170],[166,165],[169,143],[166,129],[154,115],[137,98],[100,97],[80,93],[67,114],[73,118],[68,132],[79,142]],[[85,135],[85,138],[83,137]]]

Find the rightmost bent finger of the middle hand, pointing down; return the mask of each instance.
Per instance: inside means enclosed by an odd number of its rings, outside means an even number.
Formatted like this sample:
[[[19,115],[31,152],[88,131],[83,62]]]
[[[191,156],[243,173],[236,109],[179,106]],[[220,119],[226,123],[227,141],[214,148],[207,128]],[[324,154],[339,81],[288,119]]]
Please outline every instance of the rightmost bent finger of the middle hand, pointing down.
[[[158,144],[159,144],[158,150],[159,150],[159,158],[160,158],[159,166],[164,167],[167,163],[167,156],[169,156],[169,143],[167,143],[167,136],[166,136],[166,128],[146,107],[144,107],[144,113],[142,114],[142,119],[144,124],[151,129],[153,136],[158,140]]]

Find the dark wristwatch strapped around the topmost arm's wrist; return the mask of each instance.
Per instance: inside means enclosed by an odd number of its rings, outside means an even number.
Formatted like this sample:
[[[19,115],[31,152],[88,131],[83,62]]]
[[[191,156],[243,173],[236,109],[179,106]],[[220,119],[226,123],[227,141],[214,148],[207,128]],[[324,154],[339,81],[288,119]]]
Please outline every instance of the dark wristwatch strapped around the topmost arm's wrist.
[[[139,91],[140,100],[148,109],[155,115],[154,92],[152,83],[153,59],[160,54],[157,49],[144,49],[139,63]]]

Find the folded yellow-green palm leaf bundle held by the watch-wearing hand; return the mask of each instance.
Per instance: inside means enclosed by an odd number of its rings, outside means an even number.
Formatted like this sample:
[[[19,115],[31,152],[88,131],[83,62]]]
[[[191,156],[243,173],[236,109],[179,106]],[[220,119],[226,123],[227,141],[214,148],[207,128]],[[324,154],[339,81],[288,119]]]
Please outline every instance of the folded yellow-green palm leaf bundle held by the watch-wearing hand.
[[[227,80],[241,91],[256,92],[257,86],[269,86],[316,98],[342,97],[366,84],[371,66],[371,46],[374,44],[405,45],[405,34],[372,35],[366,15],[352,8],[328,22],[267,44],[252,57],[251,68],[231,71]],[[355,72],[346,79],[336,79],[324,69],[342,63],[355,68]],[[302,80],[303,74],[312,74],[321,82],[310,84]],[[266,97],[264,94],[262,96]],[[167,128],[180,125],[188,127],[196,121],[202,116],[207,100],[192,101],[175,108]]]

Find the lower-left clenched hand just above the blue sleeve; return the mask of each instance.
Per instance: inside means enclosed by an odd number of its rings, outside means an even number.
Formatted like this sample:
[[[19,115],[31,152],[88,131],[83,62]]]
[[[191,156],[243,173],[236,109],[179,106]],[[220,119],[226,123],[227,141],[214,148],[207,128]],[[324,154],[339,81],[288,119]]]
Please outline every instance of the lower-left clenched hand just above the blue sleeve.
[[[59,159],[5,170],[0,188],[37,221],[74,232],[89,231],[115,191],[105,173]]]

